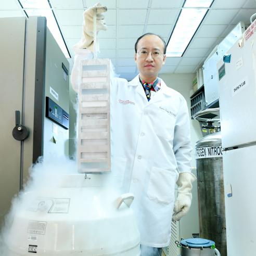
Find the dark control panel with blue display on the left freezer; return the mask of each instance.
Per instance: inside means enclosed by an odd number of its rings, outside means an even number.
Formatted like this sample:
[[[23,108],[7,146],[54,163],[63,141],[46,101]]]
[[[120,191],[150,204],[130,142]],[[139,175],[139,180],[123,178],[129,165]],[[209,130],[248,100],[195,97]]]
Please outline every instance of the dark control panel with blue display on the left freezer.
[[[47,118],[59,124],[64,129],[69,129],[69,114],[49,97],[46,97],[45,109]]]

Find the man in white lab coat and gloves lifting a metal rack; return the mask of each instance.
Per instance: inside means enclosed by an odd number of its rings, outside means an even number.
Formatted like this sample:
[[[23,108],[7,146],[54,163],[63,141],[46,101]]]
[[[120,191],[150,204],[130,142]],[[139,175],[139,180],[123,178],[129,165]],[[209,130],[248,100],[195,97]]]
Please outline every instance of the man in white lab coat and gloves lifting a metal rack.
[[[97,31],[106,29],[101,14],[107,8],[100,4],[96,8]],[[78,48],[93,49],[93,10],[91,7],[84,12]],[[159,35],[140,36],[134,56],[139,74],[131,82],[120,78],[111,81],[111,171],[122,191],[135,196],[132,208],[140,231],[142,256],[158,256],[161,248],[169,245],[171,222],[187,213],[191,183],[196,179],[190,172],[186,100],[158,78],[165,52],[166,44]],[[77,72],[73,68],[74,88],[78,86]]]

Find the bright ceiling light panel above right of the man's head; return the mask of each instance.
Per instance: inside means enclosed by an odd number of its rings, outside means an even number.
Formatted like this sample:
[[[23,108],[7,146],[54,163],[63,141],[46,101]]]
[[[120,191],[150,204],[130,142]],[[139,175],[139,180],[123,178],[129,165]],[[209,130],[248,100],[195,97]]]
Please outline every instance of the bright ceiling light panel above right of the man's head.
[[[167,57],[183,55],[212,2],[213,0],[187,0],[185,2],[167,45]]]

